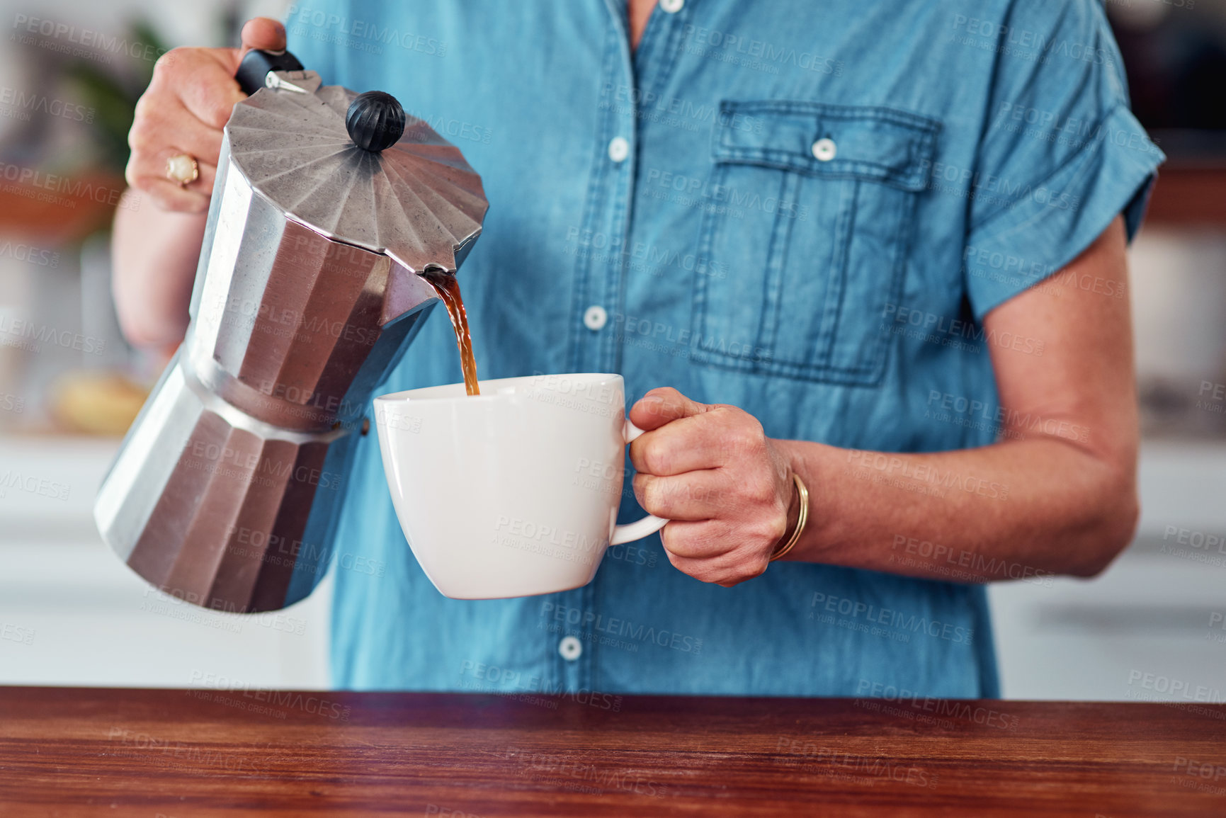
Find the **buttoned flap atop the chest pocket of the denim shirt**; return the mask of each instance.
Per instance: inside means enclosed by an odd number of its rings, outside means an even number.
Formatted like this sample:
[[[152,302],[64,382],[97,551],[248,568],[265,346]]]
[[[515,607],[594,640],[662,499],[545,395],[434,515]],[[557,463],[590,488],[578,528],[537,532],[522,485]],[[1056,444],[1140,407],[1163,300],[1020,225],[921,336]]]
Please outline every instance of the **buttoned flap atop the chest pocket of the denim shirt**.
[[[720,103],[712,158],[923,190],[940,124],[893,108]]]

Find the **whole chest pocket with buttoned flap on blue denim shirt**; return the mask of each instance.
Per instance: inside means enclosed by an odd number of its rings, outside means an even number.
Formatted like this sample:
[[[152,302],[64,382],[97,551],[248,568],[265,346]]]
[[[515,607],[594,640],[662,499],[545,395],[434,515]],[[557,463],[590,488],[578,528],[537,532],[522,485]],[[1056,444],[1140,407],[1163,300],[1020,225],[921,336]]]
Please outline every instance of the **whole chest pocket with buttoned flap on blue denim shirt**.
[[[879,383],[939,123],[886,108],[722,102],[694,277],[693,361]]]

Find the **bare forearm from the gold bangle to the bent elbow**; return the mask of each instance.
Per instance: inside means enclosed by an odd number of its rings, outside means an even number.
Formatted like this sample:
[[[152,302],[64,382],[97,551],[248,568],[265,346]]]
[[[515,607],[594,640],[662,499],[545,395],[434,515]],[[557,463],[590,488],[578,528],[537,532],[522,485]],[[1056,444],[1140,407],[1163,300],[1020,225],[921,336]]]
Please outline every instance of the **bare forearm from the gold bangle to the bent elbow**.
[[[1133,470],[1056,437],[933,454],[775,444],[809,488],[785,559],[956,581],[1086,576],[1135,526]]]

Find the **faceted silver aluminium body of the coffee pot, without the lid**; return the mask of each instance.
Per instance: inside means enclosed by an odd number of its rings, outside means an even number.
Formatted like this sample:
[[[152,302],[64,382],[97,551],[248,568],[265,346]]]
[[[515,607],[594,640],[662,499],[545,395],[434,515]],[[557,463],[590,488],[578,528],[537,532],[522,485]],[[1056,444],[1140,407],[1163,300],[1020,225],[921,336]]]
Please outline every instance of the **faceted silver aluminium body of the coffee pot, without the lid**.
[[[162,591],[256,612],[322,579],[367,401],[439,298],[389,256],[294,221],[228,155],[227,140],[188,335],[94,518]]]

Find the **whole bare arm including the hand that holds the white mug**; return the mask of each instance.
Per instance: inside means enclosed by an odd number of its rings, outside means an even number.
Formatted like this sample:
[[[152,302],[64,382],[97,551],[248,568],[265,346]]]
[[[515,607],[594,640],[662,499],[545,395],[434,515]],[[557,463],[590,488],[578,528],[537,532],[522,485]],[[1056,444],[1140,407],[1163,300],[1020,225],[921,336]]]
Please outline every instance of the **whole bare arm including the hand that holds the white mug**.
[[[1029,289],[984,320],[996,338],[1040,338],[1042,356],[991,343],[1004,440],[938,454],[851,451],[772,440],[731,406],[652,390],[631,419],[655,429],[630,456],[635,491],[669,559],[734,585],[766,570],[794,524],[791,475],[809,487],[809,522],[785,559],[988,581],[1092,575],[1135,529],[1138,419],[1121,218],[1069,267],[1100,292]],[[992,416],[992,422],[996,416]]]

